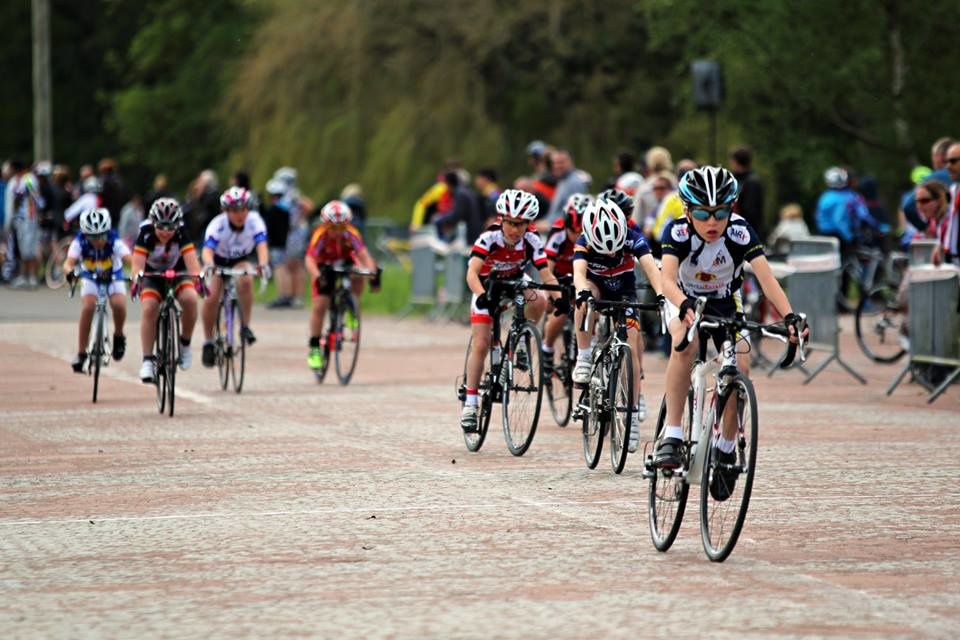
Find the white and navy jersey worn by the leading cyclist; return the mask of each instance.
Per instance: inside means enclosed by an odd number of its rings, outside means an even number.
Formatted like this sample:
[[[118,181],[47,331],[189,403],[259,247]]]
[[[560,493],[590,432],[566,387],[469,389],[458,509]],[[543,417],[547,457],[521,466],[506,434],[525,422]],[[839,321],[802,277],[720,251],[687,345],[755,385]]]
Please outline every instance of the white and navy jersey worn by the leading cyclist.
[[[680,261],[680,290],[688,296],[729,298],[743,282],[743,263],[764,255],[763,243],[749,223],[731,214],[723,235],[705,242],[686,217],[667,224],[663,231],[663,255]]]

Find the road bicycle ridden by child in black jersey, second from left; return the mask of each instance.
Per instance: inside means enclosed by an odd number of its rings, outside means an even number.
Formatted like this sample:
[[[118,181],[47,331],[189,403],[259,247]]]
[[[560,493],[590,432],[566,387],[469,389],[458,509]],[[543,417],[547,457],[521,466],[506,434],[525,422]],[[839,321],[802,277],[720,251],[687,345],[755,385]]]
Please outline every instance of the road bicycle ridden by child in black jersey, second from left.
[[[198,278],[188,271],[140,272],[143,278],[160,278],[164,281],[166,293],[157,312],[157,331],[154,334],[153,354],[156,358],[156,375],[154,384],[157,387],[157,410],[163,415],[164,409],[173,417],[175,389],[177,386],[177,366],[180,364],[180,316],[182,310],[177,302],[177,279],[184,276]]]

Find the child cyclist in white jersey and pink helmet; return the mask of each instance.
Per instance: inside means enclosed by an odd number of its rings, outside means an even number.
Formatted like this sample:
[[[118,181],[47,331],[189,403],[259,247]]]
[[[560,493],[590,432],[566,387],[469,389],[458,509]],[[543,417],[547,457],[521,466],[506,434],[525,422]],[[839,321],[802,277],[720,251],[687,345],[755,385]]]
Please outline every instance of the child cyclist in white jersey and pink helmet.
[[[205,279],[209,283],[210,304],[203,305],[203,366],[208,369],[216,363],[213,347],[213,324],[217,320],[217,301],[223,287],[222,278],[210,278],[214,266],[252,270],[257,264],[257,275],[265,280],[270,278],[270,250],[267,247],[267,227],[256,211],[250,211],[250,192],[243,187],[230,187],[220,196],[220,208],[223,210],[207,225],[204,234],[203,258]],[[251,276],[237,278],[237,295],[243,310],[240,337],[247,344],[257,341],[250,330],[253,311],[253,279]]]

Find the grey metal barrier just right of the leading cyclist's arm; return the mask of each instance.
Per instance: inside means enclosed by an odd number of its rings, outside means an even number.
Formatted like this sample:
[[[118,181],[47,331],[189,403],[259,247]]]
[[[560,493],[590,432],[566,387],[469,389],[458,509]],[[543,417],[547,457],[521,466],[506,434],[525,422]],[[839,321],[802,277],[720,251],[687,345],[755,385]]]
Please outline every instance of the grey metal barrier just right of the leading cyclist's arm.
[[[866,379],[840,357],[840,326],[837,318],[837,287],[839,286],[840,252],[836,239],[832,240],[833,253],[789,257],[787,264],[793,269],[788,279],[790,304],[794,309],[807,314],[810,326],[810,349],[824,350],[829,356],[803,381],[809,384],[831,362],[836,361],[856,378],[860,384]],[[824,246],[824,245],[821,245]]]

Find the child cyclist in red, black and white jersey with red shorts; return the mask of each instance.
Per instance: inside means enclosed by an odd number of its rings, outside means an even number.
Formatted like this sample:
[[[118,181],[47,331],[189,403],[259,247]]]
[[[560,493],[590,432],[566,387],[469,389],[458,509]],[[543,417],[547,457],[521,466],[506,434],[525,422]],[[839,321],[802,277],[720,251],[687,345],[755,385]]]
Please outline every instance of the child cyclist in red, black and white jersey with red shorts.
[[[470,330],[473,346],[467,357],[467,397],[460,415],[460,427],[468,433],[477,430],[477,389],[483,359],[490,350],[490,334],[493,318],[491,311],[500,303],[496,283],[508,278],[528,278],[523,271],[532,264],[540,272],[546,284],[556,284],[550,272],[547,255],[540,236],[531,223],[540,213],[540,204],[532,193],[519,189],[505,189],[497,198],[499,224],[480,234],[473,244],[470,261],[467,263],[467,286],[473,292],[470,302]],[[547,298],[542,291],[528,291],[525,315],[537,323],[547,308]],[[551,292],[557,313],[567,313],[570,305],[559,292]]]

